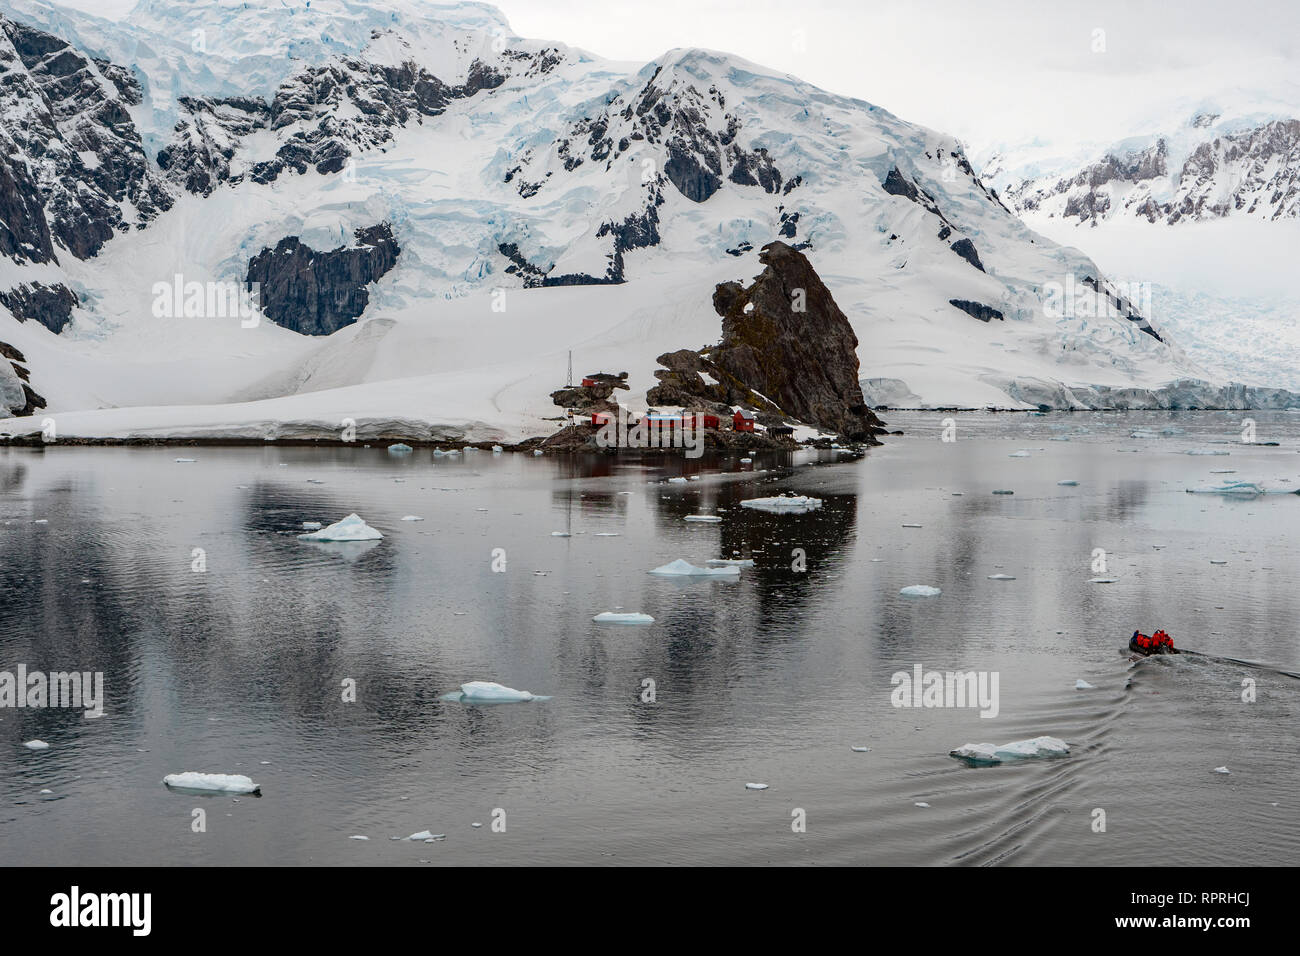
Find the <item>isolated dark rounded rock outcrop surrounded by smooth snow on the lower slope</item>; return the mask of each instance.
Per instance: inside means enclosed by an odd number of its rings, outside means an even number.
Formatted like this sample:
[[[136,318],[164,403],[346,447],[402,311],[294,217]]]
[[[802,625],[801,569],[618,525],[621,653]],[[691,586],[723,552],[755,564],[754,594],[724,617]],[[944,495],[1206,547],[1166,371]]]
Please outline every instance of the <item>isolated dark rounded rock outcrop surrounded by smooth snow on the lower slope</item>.
[[[355,323],[370,300],[367,286],[396,264],[387,222],[356,232],[356,246],[317,252],[296,235],[264,248],[248,263],[250,286],[268,319],[304,336],[328,336]]]

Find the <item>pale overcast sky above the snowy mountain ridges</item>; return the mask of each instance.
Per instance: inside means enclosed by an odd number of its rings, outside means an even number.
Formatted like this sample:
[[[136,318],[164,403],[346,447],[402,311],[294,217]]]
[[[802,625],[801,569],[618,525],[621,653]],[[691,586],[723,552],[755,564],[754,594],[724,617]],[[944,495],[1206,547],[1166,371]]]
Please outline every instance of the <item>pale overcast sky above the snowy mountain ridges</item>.
[[[101,16],[134,5],[64,1]],[[738,53],[953,133],[972,152],[1035,138],[1109,144],[1166,117],[1174,101],[1234,88],[1238,99],[1266,91],[1300,100],[1297,0],[499,0],[497,7],[521,36],[616,60],[645,62],[673,47]]]

